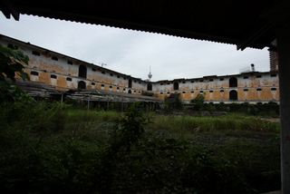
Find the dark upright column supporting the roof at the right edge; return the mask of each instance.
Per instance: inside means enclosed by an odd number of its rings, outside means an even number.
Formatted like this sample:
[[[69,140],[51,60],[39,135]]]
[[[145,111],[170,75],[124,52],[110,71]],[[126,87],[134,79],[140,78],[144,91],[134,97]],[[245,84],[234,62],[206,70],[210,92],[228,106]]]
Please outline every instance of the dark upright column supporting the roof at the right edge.
[[[282,193],[290,193],[290,26],[277,30]]]

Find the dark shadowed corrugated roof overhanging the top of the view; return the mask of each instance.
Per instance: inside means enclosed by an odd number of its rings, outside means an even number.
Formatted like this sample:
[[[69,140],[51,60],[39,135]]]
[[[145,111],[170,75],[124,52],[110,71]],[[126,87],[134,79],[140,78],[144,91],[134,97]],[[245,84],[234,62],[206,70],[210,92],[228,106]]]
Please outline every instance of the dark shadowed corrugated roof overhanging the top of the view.
[[[9,3],[8,3],[9,2]],[[289,22],[289,1],[212,0],[1,0],[5,15],[39,15],[87,24],[170,34],[263,48],[275,39],[271,17],[283,13]],[[279,5],[284,4],[284,5]],[[277,6],[276,6],[277,5]],[[272,10],[273,7],[276,7]],[[280,12],[281,10],[281,12]]]

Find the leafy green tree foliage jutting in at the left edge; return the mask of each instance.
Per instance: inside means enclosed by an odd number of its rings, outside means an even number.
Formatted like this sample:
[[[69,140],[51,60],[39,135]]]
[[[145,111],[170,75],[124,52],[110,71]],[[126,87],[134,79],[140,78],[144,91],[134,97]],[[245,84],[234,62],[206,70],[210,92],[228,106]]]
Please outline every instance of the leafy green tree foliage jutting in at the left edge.
[[[26,94],[14,85],[15,73],[23,80],[29,80],[24,73],[24,64],[29,58],[22,51],[14,50],[0,44],[0,103],[21,100]]]

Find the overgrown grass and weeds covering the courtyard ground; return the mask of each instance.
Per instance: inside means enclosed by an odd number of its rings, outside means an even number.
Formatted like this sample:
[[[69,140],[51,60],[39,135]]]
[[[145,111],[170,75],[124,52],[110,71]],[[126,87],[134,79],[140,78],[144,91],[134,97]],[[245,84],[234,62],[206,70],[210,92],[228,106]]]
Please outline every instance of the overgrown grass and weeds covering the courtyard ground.
[[[280,189],[279,123],[72,110],[0,110],[4,193],[259,193]],[[153,121],[153,122],[152,122]]]

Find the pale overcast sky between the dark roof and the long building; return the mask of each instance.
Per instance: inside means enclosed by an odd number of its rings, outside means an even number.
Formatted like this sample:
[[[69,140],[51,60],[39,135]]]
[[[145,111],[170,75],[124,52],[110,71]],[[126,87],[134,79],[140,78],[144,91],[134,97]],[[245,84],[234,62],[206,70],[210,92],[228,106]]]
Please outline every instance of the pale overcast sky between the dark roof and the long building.
[[[105,63],[105,68],[143,80],[151,67],[153,82],[236,74],[251,63],[258,72],[269,71],[267,48],[242,52],[236,45],[30,15],[20,15],[17,22],[0,13],[0,25],[0,34],[88,63]]]

